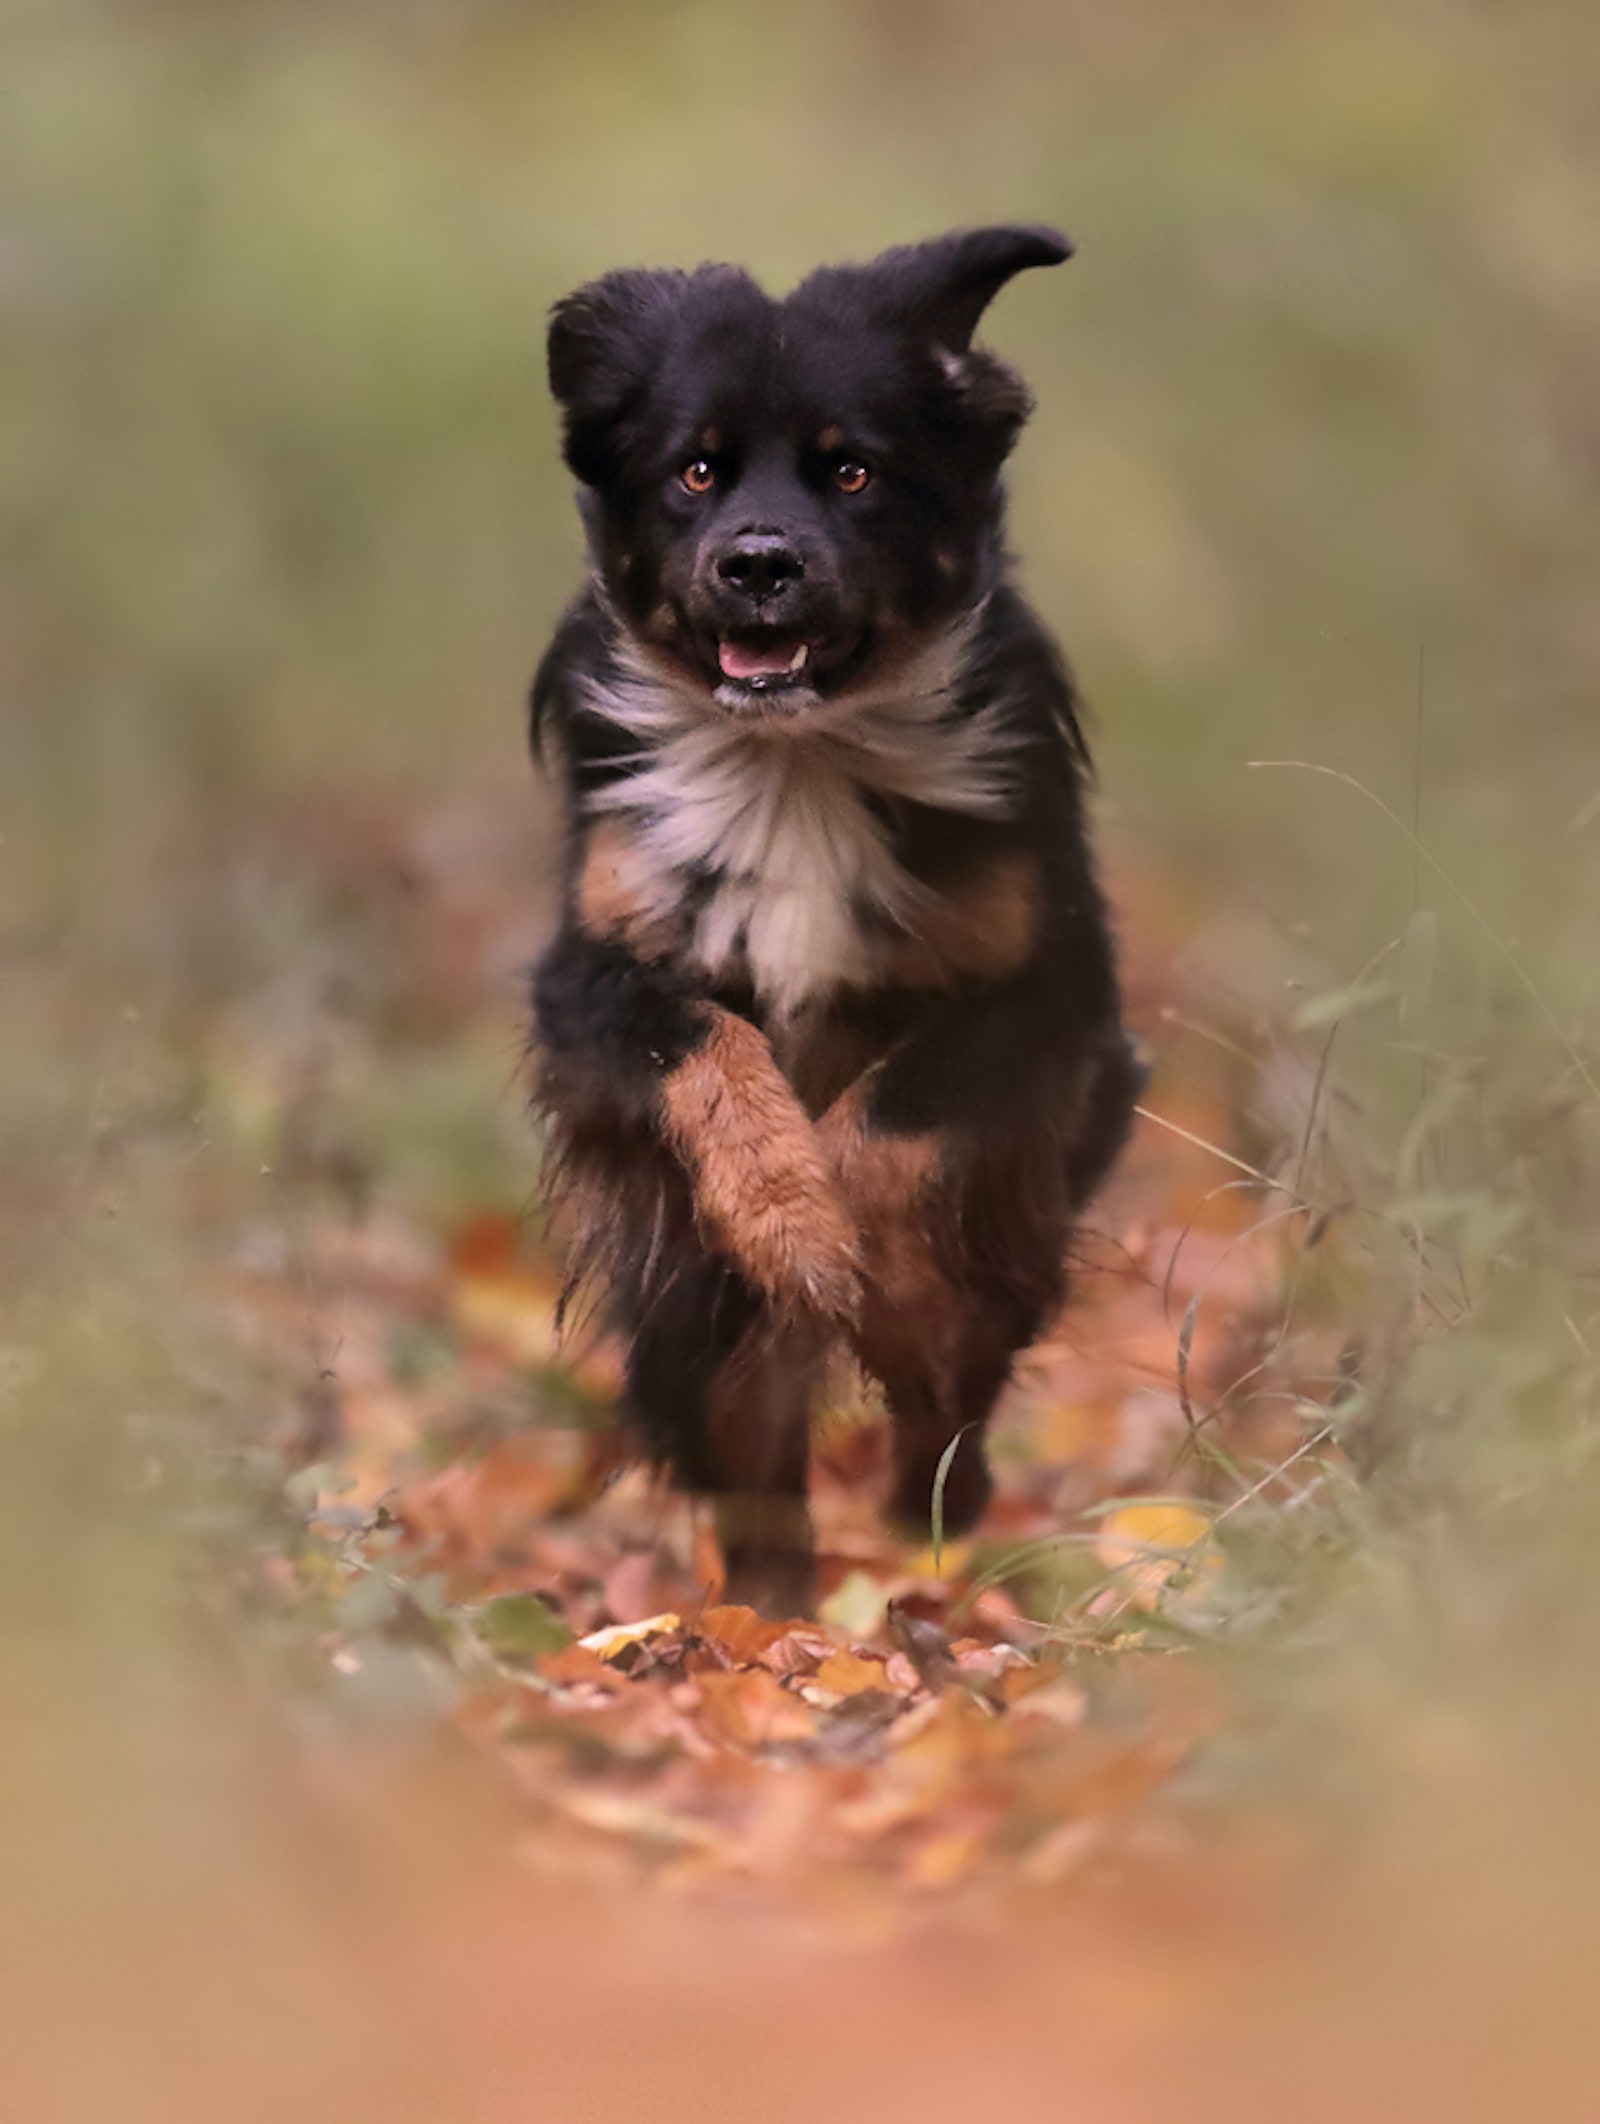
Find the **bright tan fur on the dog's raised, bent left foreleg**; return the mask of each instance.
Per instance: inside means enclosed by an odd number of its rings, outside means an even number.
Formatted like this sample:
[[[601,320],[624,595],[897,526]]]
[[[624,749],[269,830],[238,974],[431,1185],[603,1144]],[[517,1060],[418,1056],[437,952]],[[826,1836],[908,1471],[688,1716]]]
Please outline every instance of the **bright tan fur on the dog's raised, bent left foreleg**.
[[[852,1319],[856,1234],[763,1034],[712,1007],[661,1098],[712,1240],[784,1311]]]

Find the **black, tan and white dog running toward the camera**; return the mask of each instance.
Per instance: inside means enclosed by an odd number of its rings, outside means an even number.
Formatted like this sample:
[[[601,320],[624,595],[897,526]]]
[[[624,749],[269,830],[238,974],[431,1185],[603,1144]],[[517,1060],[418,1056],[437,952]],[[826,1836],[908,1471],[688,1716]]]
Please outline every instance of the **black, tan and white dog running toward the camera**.
[[[533,682],[567,850],[533,975],[548,1192],[625,1415],[729,1601],[814,1599],[810,1404],[882,1383],[892,1514],[977,1523],[1141,1083],[1069,669],[1011,582],[1022,378],[973,346],[1071,246],[612,272],[550,314],[591,552]]]

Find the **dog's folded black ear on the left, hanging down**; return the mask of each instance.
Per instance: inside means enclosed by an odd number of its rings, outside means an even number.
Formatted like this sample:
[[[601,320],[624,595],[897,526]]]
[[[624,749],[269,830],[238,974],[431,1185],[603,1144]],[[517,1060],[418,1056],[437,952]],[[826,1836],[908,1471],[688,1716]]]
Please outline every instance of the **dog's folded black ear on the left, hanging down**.
[[[686,287],[682,272],[608,272],[550,310],[550,393],[567,463],[586,486],[606,480],[618,425],[650,380]]]

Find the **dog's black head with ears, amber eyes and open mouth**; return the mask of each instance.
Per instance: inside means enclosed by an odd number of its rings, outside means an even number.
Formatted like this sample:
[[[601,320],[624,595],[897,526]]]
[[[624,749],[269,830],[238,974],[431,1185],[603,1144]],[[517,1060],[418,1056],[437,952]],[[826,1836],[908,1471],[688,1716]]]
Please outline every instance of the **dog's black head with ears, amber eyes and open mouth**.
[[[982,595],[1022,380],[971,336],[1050,229],[971,229],[812,274],[618,272],[550,321],[550,389],[612,607],[735,716],[890,673]]]

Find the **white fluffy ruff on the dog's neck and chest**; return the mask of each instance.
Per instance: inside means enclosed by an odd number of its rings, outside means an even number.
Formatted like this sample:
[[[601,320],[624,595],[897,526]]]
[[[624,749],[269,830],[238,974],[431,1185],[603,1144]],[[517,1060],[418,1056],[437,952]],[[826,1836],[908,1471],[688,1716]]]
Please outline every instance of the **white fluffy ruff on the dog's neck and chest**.
[[[926,888],[895,860],[869,799],[973,818],[1011,809],[1003,703],[956,701],[973,627],[793,722],[739,722],[633,648],[591,684],[586,705],[640,750],[589,809],[637,822],[659,911],[699,894],[699,971],[748,977],[773,1020],[871,986],[886,943],[918,928]]]

